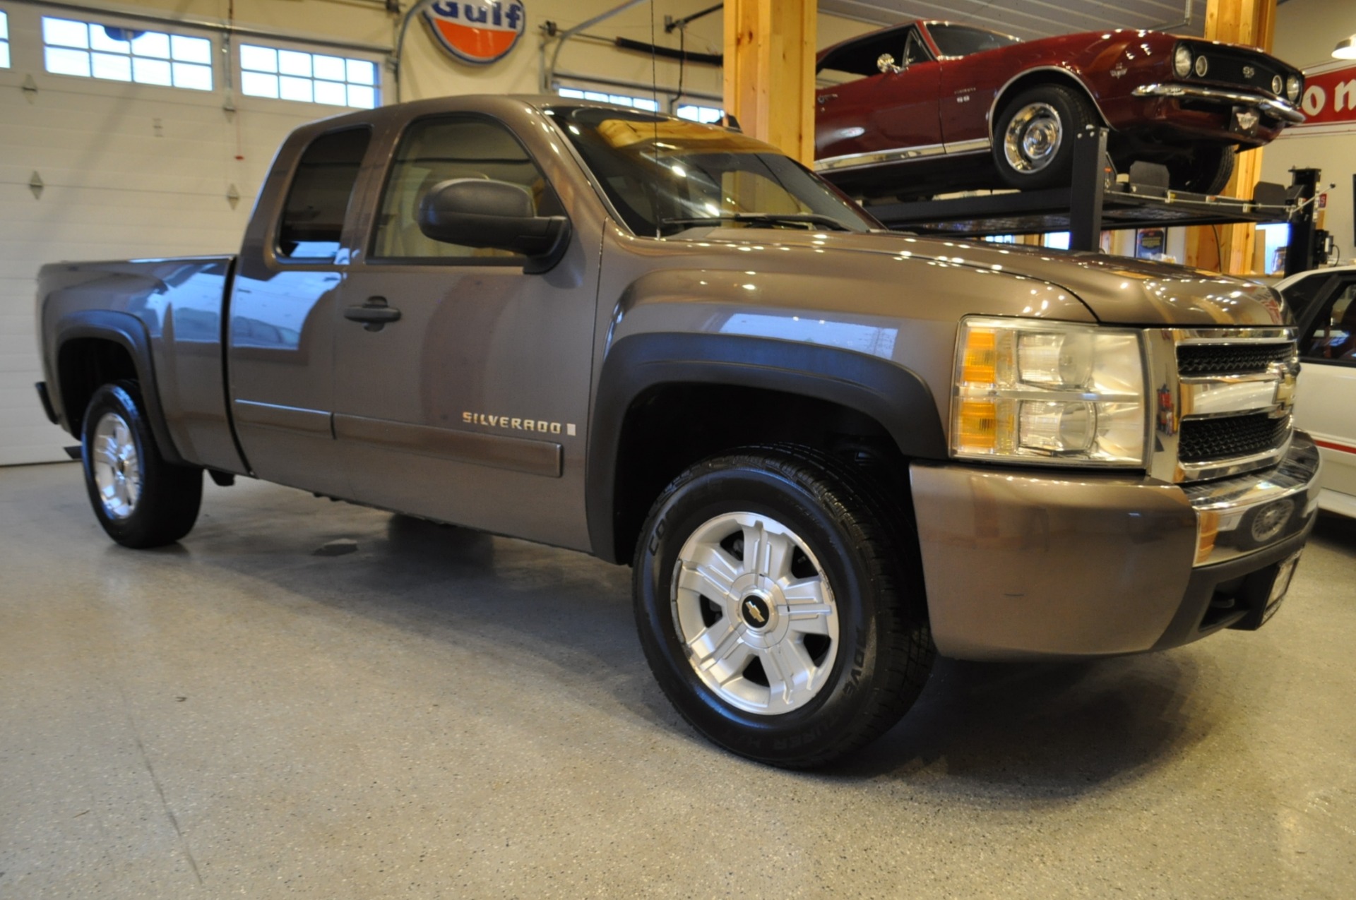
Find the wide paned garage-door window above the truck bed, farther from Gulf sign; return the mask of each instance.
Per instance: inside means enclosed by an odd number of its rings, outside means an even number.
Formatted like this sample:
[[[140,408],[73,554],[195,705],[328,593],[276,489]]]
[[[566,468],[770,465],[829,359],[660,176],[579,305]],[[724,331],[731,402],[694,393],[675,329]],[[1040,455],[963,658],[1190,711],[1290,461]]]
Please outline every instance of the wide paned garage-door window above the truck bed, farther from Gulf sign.
[[[108,81],[212,89],[212,41],[42,16],[47,72]]]

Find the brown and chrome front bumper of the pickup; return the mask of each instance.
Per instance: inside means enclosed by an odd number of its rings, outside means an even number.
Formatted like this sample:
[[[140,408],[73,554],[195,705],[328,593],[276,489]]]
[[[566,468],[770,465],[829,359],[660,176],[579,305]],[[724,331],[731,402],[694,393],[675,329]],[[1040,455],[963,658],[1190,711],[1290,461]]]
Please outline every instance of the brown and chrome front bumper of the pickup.
[[[1109,656],[1257,628],[1275,611],[1280,564],[1314,525],[1318,469],[1302,432],[1279,465],[1218,489],[914,464],[937,649],[974,660]]]

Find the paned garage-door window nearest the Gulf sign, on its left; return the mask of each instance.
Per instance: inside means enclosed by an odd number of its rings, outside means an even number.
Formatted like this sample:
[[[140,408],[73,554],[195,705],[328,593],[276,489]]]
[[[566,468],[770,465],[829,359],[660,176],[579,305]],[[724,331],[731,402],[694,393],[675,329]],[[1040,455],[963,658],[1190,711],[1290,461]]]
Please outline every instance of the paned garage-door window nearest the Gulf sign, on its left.
[[[324,53],[240,45],[240,92],[370,110],[380,102],[377,65]]]

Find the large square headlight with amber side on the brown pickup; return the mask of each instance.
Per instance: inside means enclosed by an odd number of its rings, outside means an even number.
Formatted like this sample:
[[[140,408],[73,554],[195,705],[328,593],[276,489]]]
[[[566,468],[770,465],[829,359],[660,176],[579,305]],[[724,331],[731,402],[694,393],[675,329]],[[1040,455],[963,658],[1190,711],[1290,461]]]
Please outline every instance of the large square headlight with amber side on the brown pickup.
[[[1020,319],[961,323],[953,455],[1143,465],[1146,432],[1139,332]]]

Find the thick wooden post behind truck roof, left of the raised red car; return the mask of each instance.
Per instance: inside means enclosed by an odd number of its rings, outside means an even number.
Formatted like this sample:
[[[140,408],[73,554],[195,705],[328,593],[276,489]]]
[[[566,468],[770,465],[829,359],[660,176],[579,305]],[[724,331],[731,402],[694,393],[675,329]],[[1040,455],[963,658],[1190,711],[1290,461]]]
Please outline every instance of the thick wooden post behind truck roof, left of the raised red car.
[[[815,0],[725,0],[725,112],[805,165],[815,159]]]

